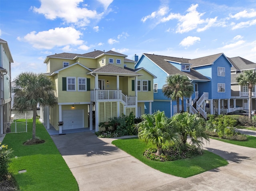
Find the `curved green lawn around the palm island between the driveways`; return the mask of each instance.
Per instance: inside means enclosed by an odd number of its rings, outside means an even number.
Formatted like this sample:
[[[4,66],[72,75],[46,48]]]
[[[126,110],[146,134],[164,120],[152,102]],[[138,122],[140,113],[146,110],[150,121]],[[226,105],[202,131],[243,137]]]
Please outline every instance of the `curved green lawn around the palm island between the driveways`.
[[[114,140],[112,144],[139,159],[146,165],[178,177],[190,177],[228,164],[225,159],[208,151],[204,151],[202,156],[197,156],[191,159],[166,162],[153,161],[143,156],[143,152],[148,146],[138,140],[138,138]]]

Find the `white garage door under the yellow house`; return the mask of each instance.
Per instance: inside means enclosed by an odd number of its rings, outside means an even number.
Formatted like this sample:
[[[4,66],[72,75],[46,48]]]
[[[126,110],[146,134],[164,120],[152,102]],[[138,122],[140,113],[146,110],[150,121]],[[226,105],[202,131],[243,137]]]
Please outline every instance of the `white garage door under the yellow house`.
[[[84,110],[63,110],[62,130],[84,128]]]

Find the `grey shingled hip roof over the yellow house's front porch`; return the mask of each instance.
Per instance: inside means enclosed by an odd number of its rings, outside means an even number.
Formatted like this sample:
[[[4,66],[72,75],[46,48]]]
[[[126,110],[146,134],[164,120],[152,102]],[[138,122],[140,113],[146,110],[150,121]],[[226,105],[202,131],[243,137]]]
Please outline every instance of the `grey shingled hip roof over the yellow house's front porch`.
[[[121,67],[118,67],[118,66],[115,66],[115,65],[112,65],[112,64],[108,64],[108,65],[105,65],[103,67],[100,67],[100,68],[96,68],[94,71],[90,72],[92,74],[108,74],[108,75],[126,75],[126,76],[141,76],[141,74],[138,74],[134,71],[131,71],[131,70],[128,70],[128,69],[124,69],[124,68],[121,68]],[[88,74],[90,74],[88,73]]]

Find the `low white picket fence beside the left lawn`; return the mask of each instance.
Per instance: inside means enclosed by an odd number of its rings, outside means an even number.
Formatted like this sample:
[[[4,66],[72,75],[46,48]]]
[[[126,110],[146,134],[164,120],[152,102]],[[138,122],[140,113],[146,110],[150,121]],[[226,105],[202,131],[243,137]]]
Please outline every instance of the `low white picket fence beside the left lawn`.
[[[4,133],[22,133],[28,132],[27,120],[25,122],[8,122],[4,123]]]

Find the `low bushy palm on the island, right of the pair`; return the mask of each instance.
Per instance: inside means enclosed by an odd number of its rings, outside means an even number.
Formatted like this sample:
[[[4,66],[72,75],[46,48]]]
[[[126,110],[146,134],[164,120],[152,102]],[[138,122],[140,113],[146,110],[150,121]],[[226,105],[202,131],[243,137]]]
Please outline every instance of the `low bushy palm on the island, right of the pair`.
[[[172,116],[170,124],[180,133],[183,144],[186,144],[188,136],[191,138],[191,143],[201,149],[204,139],[209,141],[204,128],[204,119],[197,114],[178,113]]]

